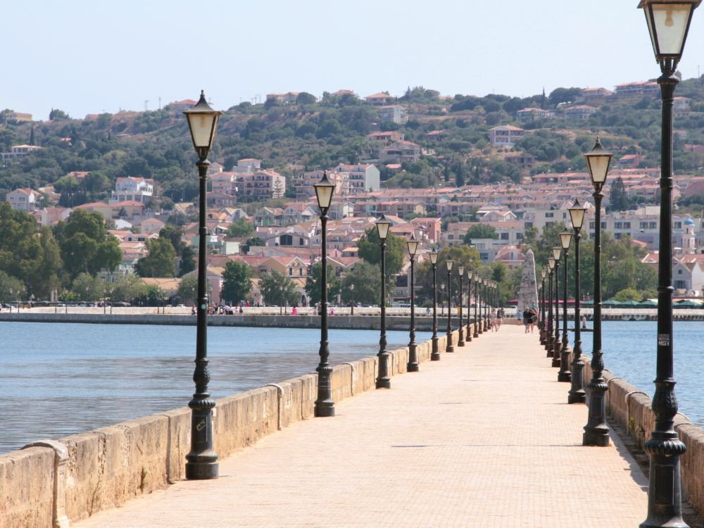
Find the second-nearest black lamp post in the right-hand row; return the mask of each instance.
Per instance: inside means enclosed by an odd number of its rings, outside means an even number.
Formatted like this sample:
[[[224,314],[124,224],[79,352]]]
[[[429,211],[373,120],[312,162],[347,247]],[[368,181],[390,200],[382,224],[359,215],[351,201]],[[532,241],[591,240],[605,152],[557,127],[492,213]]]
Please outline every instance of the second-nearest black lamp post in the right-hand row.
[[[608,446],[609,426],[606,424],[606,391],[609,386],[603,377],[604,361],[601,351],[601,191],[613,154],[604,150],[599,138],[594,148],[584,154],[589,177],[594,187],[595,227],[594,227],[594,332],[592,335],[591,381],[586,386],[589,394],[589,420],[584,426],[582,444],[584,446]]]

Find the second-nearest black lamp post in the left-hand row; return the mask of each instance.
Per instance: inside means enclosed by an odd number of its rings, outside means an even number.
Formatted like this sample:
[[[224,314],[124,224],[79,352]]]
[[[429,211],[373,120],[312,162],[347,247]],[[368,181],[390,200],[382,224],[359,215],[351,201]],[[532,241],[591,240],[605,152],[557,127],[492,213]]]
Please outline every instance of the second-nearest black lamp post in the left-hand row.
[[[315,198],[318,199],[320,208],[320,364],[315,369],[318,372],[318,399],[315,400],[315,416],[334,416],[335,402],[332,399],[332,367],[327,362],[330,351],[327,346],[327,212],[332,203],[335,184],[327,179],[327,172],[323,171],[322,180],[313,185]]]

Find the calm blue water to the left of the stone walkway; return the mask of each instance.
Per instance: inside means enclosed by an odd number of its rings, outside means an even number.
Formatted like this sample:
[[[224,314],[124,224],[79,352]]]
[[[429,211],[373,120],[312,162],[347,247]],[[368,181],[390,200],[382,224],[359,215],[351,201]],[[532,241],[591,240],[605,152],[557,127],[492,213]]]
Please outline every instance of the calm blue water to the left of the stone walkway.
[[[184,407],[194,391],[195,327],[0,322],[0,336],[0,453]],[[408,332],[387,340],[406,346]],[[330,330],[329,342],[337,365],[377,353],[379,332]],[[209,327],[210,394],[313,372],[319,346],[318,329]]]

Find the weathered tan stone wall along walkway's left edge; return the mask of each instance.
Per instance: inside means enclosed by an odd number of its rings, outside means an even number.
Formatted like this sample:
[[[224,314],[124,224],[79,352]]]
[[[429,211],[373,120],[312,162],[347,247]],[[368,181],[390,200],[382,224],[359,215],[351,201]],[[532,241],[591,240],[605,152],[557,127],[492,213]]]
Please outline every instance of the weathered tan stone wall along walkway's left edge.
[[[439,334],[441,353],[446,339]],[[431,349],[430,341],[418,344],[418,360],[429,360]],[[389,375],[406,372],[407,363],[408,348],[390,351]],[[334,401],[374,389],[376,376],[376,356],[337,365]],[[318,375],[308,374],[218,400],[215,451],[225,457],[313,417],[317,397]],[[191,411],[180,408],[2,455],[0,528],[68,527],[70,521],[163,489],[184,478],[190,435]]]

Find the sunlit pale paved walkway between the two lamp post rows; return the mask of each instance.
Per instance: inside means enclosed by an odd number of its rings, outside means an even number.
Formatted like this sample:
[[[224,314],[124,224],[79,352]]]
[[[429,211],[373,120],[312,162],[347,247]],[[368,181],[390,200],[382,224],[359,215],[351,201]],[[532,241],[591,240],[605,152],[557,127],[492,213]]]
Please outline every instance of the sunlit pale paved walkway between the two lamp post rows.
[[[73,524],[156,527],[635,527],[647,480],[617,441],[583,447],[536,336],[484,334],[178,482]]]

